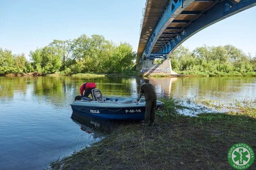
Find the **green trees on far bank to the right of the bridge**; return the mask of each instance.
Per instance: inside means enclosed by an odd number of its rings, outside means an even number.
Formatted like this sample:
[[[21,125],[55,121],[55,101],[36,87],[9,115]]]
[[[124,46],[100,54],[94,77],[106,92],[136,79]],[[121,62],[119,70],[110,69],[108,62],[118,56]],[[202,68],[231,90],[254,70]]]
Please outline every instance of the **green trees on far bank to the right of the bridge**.
[[[253,72],[256,69],[256,56],[247,55],[232,45],[204,45],[192,52],[181,45],[171,55],[171,66],[177,72]]]

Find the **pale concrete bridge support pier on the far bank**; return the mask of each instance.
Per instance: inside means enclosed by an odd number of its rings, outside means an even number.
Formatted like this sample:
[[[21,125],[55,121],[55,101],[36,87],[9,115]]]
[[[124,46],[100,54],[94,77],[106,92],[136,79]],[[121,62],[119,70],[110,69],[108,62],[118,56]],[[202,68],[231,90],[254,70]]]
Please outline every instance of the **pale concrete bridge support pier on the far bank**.
[[[144,71],[143,76],[154,74],[179,75],[171,69],[171,59],[163,60],[162,64],[152,64],[152,60],[143,60],[142,69]]]

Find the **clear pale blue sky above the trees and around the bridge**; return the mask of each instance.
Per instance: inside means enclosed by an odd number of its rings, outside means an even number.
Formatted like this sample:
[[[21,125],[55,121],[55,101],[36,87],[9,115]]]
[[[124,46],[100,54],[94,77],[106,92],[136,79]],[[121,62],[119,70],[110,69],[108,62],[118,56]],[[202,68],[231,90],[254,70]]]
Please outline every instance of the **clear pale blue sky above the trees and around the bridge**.
[[[137,51],[145,0],[0,0],[0,47],[25,53],[54,39],[101,34],[115,43],[130,43]],[[193,50],[232,44],[256,55],[256,7],[224,19],[183,43]]]

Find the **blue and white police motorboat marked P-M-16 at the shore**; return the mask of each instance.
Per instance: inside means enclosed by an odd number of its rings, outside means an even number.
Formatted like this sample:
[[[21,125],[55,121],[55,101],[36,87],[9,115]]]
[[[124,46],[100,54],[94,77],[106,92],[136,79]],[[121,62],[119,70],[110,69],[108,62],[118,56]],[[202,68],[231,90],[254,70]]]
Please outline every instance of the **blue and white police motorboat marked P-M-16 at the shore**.
[[[99,89],[93,89],[93,100],[80,98],[72,104],[73,114],[77,117],[90,117],[103,120],[143,120],[145,115],[145,98],[141,98],[136,104],[136,97],[102,96]],[[157,100],[157,108],[163,106],[163,102]],[[91,121],[93,123],[93,121]],[[97,126],[97,122],[95,126]]]

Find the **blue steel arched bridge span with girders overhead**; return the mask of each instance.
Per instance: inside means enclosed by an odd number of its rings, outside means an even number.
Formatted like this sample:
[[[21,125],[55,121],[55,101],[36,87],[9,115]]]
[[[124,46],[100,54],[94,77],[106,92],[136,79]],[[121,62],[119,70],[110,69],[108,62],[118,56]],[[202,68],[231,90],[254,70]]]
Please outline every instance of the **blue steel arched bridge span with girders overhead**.
[[[148,4],[157,2],[147,0],[144,16],[147,13],[150,16]],[[144,37],[144,41],[147,39],[147,43],[144,43],[145,47],[141,41],[139,43],[137,64],[145,59],[167,58],[174,49],[195,33],[255,5],[256,0],[169,0],[154,29],[151,27],[151,32],[146,34],[147,37],[141,34],[141,38]],[[163,8],[163,5],[161,7]],[[148,20],[150,21],[150,17]],[[141,49],[144,49],[143,52]]]

